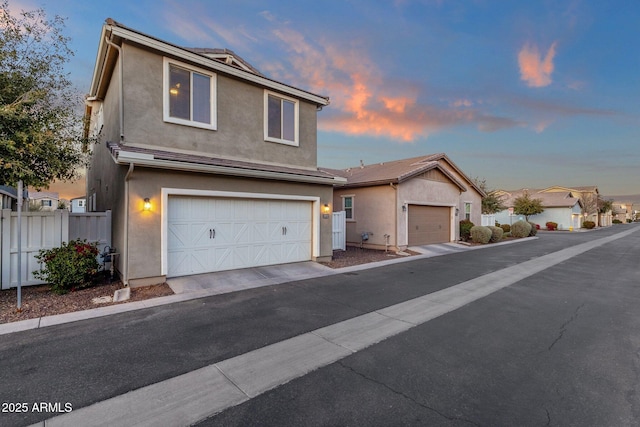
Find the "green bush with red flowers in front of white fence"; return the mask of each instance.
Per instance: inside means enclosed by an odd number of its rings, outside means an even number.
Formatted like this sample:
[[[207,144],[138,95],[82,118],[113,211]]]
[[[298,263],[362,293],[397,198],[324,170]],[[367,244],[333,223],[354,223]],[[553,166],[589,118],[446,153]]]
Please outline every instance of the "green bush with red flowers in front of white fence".
[[[42,249],[36,255],[39,264],[44,264],[33,275],[51,285],[57,294],[65,294],[76,288],[86,287],[98,273],[98,246],[86,240],[72,240],[59,248]]]

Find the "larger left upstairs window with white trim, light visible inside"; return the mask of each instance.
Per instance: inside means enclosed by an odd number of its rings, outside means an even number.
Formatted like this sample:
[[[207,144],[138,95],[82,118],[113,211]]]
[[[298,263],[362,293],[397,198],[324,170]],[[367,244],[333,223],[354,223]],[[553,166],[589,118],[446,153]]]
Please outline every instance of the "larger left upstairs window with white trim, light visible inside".
[[[164,121],[216,129],[216,75],[164,58]]]

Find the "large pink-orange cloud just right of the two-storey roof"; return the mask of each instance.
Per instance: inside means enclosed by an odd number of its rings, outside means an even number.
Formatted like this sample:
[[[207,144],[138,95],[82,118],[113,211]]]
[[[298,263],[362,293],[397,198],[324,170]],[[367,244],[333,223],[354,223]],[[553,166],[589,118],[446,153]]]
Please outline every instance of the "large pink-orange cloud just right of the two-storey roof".
[[[357,44],[335,44],[326,39],[312,43],[286,27],[273,34],[291,53],[287,58],[290,66],[279,61],[261,64],[261,68],[279,80],[330,96],[331,106],[320,116],[321,130],[412,142],[445,127],[483,120],[474,111],[419,104],[419,88],[385,79]]]

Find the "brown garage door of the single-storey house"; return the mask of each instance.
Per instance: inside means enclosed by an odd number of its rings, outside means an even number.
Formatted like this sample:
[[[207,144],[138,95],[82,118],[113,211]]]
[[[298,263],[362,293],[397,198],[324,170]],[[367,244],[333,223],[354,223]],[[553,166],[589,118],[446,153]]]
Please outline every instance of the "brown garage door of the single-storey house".
[[[451,241],[451,208],[409,205],[409,246]]]

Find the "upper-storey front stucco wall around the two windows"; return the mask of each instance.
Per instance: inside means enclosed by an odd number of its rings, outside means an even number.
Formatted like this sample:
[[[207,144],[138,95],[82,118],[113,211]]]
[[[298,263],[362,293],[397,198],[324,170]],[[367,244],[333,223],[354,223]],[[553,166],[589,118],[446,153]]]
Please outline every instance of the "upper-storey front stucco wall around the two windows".
[[[216,75],[217,130],[163,121],[163,56],[129,44],[124,56],[124,143],[315,168],[316,107],[299,101],[299,146],[264,140],[264,89]],[[112,81],[111,91],[117,87]]]

